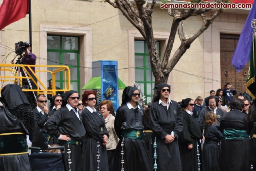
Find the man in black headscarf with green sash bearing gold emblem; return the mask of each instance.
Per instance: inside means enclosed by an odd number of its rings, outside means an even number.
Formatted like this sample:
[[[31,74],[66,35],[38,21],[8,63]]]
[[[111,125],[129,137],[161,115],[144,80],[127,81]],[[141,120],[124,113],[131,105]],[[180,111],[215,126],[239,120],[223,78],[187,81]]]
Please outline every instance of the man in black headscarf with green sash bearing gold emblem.
[[[114,128],[120,141],[114,155],[111,171],[152,171],[146,143],[143,140],[144,108],[138,104],[140,91],[126,87],[122,105],[116,111]],[[121,163],[121,159],[124,163]]]

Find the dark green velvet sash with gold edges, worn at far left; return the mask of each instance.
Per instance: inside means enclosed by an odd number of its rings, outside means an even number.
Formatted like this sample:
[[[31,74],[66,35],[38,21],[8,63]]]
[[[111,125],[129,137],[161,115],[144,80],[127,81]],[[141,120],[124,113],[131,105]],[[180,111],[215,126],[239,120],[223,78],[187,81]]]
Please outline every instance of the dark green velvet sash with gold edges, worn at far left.
[[[28,143],[24,133],[0,134],[0,155],[19,155],[26,153],[28,153]]]

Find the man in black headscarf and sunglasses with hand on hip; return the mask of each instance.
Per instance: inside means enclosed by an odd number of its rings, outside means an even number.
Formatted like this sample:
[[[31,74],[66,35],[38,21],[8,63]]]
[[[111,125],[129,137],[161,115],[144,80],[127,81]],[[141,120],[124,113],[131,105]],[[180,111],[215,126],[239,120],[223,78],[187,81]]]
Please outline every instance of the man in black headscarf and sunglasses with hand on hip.
[[[57,137],[60,145],[64,145],[68,151],[68,158],[71,162],[68,168],[72,171],[82,169],[82,139],[85,135],[82,118],[78,114],[79,94],[77,91],[70,90],[62,95],[62,106],[46,122],[46,130],[50,135]],[[69,153],[70,152],[70,153]]]

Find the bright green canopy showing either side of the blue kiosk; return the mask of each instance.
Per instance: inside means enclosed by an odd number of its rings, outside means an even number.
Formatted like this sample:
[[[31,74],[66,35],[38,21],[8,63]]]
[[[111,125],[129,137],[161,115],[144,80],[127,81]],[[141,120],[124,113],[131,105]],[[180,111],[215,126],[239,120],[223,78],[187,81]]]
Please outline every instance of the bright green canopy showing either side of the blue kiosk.
[[[118,89],[124,89],[126,85],[118,78]],[[91,78],[82,89],[101,89],[101,77]]]

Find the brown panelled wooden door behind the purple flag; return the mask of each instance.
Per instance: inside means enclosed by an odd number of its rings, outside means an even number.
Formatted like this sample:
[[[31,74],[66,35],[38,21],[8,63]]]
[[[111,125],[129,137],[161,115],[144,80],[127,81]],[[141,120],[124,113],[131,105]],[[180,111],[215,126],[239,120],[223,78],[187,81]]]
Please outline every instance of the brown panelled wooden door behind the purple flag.
[[[234,85],[237,94],[244,93],[245,91],[246,78],[249,69],[249,62],[240,72],[237,72],[231,64],[238,38],[239,35],[220,34],[221,89],[224,89],[224,85],[229,83],[230,85]]]

